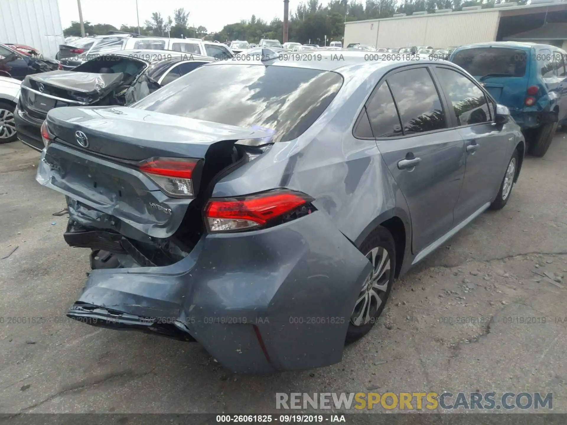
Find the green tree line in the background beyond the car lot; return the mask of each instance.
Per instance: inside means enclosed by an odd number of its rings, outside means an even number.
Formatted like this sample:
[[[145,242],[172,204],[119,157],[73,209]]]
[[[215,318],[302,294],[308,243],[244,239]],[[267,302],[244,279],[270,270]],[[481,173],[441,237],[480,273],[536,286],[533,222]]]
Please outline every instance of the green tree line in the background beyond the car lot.
[[[331,0],[323,4],[320,0],[307,0],[299,3],[289,16],[289,41],[301,43],[311,42],[324,44],[327,36],[327,44],[330,41],[341,41],[344,35],[345,22],[364,19],[391,18],[396,13],[411,15],[413,12],[428,11],[433,13],[438,9],[452,8],[455,11],[462,10],[467,6],[481,6],[483,8],[493,7],[496,3],[504,0]],[[525,5],[527,0],[516,0],[519,5]],[[283,5],[282,5],[283,6]],[[146,20],[140,27],[142,35],[168,36],[166,28],[171,26],[169,35],[171,37],[196,37],[205,40],[218,40],[221,42],[232,40],[243,40],[248,42],[259,42],[260,39],[277,39],[282,41],[284,23],[280,18],[274,18],[270,22],[252,15],[249,20],[225,25],[217,33],[208,33],[205,27],[190,27],[189,12],[184,8],[174,11],[173,18],[168,16],[164,19],[159,12],[154,12],[151,19]],[[111,30],[125,32],[138,32],[137,27],[122,25],[115,28],[108,24],[91,25],[85,22],[85,32],[90,35],[105,34]],[[88,28],[88,29],[87,29]],[[72,22],[69,28],[64,30],[65,36],[81,35],[78,22]]]

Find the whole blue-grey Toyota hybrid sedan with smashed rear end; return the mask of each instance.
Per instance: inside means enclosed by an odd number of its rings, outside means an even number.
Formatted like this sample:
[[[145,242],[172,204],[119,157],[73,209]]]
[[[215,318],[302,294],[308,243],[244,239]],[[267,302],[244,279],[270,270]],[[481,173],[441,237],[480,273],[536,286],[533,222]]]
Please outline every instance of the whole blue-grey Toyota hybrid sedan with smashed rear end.
[[[49,111],[37,181],[92,249],[67,316],[198,341],[235,372],[326,366],[397,277],[509,200],[524,139],[466,71],[309,56]]]

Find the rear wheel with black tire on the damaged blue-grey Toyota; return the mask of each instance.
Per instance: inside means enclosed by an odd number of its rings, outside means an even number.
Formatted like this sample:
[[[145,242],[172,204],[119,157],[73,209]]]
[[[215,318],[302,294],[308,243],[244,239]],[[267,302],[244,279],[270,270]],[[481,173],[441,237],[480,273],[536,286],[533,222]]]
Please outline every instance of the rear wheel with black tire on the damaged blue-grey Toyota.
[[[373,251],[375,249],[377,249],[375,251],[376,254],[377,254],[376,257],[375,257],[376,258],[376,261],[375,261],[376,269],[378,269],[378,267],[380,265],[379,258],[380,258],[380,260],[383,258],[383,256],[380,256],[380,254],[383,254],[384,252],[387,253],[387,257],[386,257],[386,260],[384,261],[384,265],[383,265],[383,268],[382,268],[383,275],[382,275],[381,278],[378,279],[378,281],[375,282],[376,285],[378,285],[378,283],[382,283],[382,285],[383,285],[384,282],[386,282],[387,286],[385,287],[385,291],[376,290],[374,292],[375,294],[378,295],[378,298],[381,300],[379,305],[378,305],[378,301],[376,301],[375,297],[369,295],[367,297],[367,300],[359,301],[353,306],[352,317],[350,317],[350,320],[349,320],[349,329],[346,332],[345,343],[347,343],[347,344],[352,343],[354,341],[357,341],[358,339],[362,338],[364,335],[366,335],[367,333],[370,332],[370,329],[372,329],[372,327],[376,323],[378,317],[382,314],[384,307],[386,306],[386,301],[388,300],[388,297],[390,296],[390,292],[392,291],[394,275],[396,273],[396,245],[395,245],[395,242],[393,240],[391,233],[386,228],[384,228],[382,226],[376,227],[370,233],[370,235],[368,235],[366,237],[366,239],[362,242],[359,249],[361,250],[361,252],[363,254],[365,254],[367,257],[369,257],[369,259],[370,259],[371,254],[373,253]],[[390,260],[390,263],[389,263],[390,269],[389,270],[387,270],[387,267],[386,267],[387,266],[387,260]],[[374,275],[375,272],[376,272],[376,270],[373,270],[373,273],[369,276],[369,279],[366,280],[365,285],[361,288],[361,291],[358,294],[359,296],[357,297],[357,301],[361,300],[361,296],[364,296],[363,295],[364,292],[368,292],[367,289],[369,287],[371,287],[372,282],[370,282],[370,284],[368,284],[368,283],[370,281],[370,278],[372,277],[372,275]],[[384,281],[384,279],[387,279],[387,281]],[[380,286],[382,286],[382,285],[380,285]],[[369,294],[370,294],[370,292],[369,292]],[[357,313],[361,312],[361,309],[364,309],[364,307],[366,306],[366,303],[369,304],[368,317],[370,317],[370,320],[367,321],[366,323],[355,324],[354,318],[356,316],[359,316]],[[362,305],[362,304],[364,304],[364,305]],[[363,316],[366,316],[366,315],[363,314]]]

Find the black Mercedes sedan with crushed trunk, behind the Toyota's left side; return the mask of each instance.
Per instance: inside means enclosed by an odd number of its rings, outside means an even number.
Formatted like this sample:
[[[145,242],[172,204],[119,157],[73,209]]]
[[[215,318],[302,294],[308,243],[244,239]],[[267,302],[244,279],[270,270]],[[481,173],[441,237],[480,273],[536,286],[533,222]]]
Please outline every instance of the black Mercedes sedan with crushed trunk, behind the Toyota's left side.
[[[197,67],[208,56],[154,50],[121,50],[86,61],[70,71],[29,75],[15,109],[19,139],[41,151],[41,125],[53,108],[129,105]]]

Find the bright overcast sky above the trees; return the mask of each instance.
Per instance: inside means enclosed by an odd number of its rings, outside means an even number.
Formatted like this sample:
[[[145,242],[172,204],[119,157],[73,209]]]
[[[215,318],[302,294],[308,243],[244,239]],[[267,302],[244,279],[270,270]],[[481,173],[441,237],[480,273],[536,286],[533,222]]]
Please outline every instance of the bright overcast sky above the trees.
[[[63,28],[79,20],[77,0],[58,0]],[[327,3],[323,1],[322,3]],[[291,0],[289,8],[295,10],[299,0]],[[137,25],[136,0],[81,0],[83,19],[91,24]],[[283,19],[283,0],[138,0],[140,25],[150,19],[152,12],[161,12],[164,19],[174,16],[174,9],[184,7],[189,25],[203,25],[208,31],[221,31],[226,24],[250,19],[252,15],[270,21],[276,16]]]

